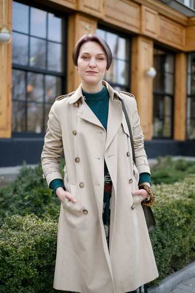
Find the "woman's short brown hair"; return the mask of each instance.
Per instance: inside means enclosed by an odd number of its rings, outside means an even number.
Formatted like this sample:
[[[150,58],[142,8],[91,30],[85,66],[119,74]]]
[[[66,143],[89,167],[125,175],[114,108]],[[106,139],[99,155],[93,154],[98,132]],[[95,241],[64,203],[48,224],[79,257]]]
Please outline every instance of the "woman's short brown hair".
[[[106,54],[106,61],[107,61],[106,70],[108,70],[113,61],[113,55],[107,42],[104,41],[104,39],[102,39],[101,37],[97,36],[96,34],[84,35],[76,43],[75,48],[73,50],[73,56],[72,56],[73,63],[75,64],[75,66],[78,66],[78,55],[79,55],[80,47],[86,42],[97,42],[102,47],[102,49],[104,50]]]

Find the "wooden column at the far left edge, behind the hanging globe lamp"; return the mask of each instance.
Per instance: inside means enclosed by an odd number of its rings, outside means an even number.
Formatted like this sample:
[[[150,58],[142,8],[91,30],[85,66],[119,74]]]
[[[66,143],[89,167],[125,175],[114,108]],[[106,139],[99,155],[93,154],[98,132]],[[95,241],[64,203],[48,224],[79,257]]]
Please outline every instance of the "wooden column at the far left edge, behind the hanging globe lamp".
[[[0,23],[12,31],[12,0],[0,0]],[[12,45],[0,43],[0,138],[11,137]]]

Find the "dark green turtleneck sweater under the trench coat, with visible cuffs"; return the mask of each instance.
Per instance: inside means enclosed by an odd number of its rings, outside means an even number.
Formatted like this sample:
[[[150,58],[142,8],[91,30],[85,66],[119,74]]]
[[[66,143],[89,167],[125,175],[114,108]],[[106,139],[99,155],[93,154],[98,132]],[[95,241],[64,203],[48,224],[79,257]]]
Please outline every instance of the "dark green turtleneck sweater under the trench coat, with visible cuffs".
[[[94,114],[98,117],[99,121],[101,122],[102,126],[107,130],[107,122],[108,122],[108,106],[109,106],[109,92],[107,90],[107,87],[102,85],[102,90],[98,93],[91,94],[87,93],[84,90],[82,90],[83,97],[85,99],[85,102],[90,107],[90,109],[94,112]],[[106,173],[108,171],[106,164],[104,164],[104,172]],[[149,173],[141,173],[139,174],[139,183],[141,184],[143,182],[150,182],[150,174]],[[54,190],[54,193],[56,194],[56,189],[58,187],[62,187],[65,190],[65,187],[63,185],[63,182],[61,179],[54,179],[49,185],[49,188]]]

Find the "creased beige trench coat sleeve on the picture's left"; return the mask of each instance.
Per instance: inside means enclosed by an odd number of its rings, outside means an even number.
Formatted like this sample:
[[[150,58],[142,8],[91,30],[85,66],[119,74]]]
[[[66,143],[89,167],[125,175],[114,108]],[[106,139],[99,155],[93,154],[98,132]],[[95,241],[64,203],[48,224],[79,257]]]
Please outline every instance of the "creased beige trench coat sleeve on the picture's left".
[[[63,180],[59,169],[60,159],[63,154],[63,145],[56,103],[52,105],[49,113],[47,131],[41,153],[43,178],[47,181],[48,186],[54,179]]]

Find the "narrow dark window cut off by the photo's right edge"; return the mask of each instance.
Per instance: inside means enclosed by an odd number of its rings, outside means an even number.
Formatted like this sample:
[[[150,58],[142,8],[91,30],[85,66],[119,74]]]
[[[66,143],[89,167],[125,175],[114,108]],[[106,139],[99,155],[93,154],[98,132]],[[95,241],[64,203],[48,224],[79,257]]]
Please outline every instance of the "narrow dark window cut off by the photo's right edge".
[[[188,55],[187,139],[195,139],[195,53]]]

